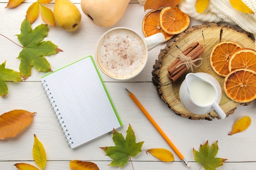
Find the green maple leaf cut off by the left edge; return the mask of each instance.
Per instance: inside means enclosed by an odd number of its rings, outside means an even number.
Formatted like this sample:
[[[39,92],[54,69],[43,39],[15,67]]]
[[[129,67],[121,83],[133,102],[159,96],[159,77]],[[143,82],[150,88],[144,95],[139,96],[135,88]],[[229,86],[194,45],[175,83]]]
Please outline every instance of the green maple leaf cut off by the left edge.
[[[20,82],[20,74],[17,71],[5,68],[5,62],[0,65],[0,96],[4,97],[8,93],[8,87],[5,84],[6,81]]]

